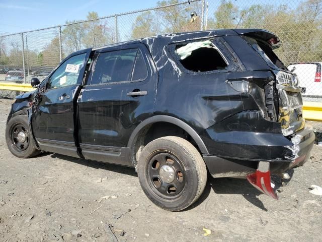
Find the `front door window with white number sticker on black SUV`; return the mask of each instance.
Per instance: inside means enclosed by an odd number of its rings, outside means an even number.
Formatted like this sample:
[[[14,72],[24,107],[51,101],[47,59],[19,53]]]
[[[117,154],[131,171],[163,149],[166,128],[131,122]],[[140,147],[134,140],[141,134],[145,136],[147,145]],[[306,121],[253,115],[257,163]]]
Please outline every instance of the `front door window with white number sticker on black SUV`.
[[[47,89],[59,88],[77,84],[79,72],[85,63],[86,53],[78,54],[67,59],[50,76]]]

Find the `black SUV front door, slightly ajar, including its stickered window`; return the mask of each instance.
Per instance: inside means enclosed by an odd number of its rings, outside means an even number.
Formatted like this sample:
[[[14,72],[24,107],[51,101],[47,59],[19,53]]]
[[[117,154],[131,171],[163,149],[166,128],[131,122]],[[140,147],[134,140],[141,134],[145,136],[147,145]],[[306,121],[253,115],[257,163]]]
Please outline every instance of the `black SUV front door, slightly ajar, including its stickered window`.
[[[74,105],[90,52],[91,49],[86,49],[65,58],[38,90],[33,104],[32,128],[42,150],[78,157],[74,141]]]

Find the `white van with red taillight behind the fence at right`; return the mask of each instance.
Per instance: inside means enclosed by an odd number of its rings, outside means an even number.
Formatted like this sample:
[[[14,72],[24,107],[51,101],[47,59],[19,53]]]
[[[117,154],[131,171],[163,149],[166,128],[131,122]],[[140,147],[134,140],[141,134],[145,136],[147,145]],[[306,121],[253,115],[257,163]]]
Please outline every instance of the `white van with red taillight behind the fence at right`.
[[[305,90],[303,96],[322,97],[321,65],[322,62],[303,62],[287,67],[297,75],[300,86]]]

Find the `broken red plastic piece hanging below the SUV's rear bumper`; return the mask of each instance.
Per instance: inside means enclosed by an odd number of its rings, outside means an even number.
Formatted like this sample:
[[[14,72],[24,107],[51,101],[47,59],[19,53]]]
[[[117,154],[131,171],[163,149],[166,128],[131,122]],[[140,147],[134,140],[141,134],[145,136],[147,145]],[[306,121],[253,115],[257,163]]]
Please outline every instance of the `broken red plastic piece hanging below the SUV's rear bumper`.
[[[248,181],[260,192],[270,196],[274,199],[278,199],[277,194],[274,192],[271,186],[271,172],[262,172],[256,170],[255,173],[246,176]]]

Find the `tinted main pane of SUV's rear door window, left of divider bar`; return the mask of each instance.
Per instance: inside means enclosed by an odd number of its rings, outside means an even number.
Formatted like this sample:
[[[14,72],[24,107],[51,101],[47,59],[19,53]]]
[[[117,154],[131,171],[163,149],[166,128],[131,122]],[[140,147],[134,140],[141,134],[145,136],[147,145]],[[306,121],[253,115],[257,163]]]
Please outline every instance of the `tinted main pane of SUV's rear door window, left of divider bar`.
[[[91,84],[130,81],[137,49],[100,53]]]

